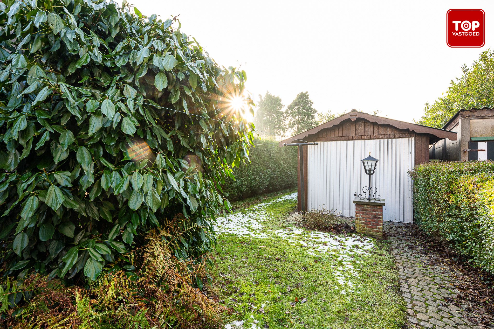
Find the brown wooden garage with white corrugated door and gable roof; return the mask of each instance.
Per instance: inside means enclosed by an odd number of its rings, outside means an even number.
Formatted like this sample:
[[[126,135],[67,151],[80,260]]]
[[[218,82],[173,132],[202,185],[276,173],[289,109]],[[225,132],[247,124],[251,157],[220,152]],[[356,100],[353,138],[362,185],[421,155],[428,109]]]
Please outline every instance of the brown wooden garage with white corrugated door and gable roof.
[[[362,194],[369,180],[361,160],[371,152],[379,159],[371,185],[386,200],[383,219],[412,223],[412,178],[408,170],[428,162],[429,145],[443,138],[456,140],[456,132],[352,110],[280,145],[300,140],[319,142],[303,146],[304,210],[335,209],[354,217],[353,199]],[[298,182],[301,210],[300,165]]]

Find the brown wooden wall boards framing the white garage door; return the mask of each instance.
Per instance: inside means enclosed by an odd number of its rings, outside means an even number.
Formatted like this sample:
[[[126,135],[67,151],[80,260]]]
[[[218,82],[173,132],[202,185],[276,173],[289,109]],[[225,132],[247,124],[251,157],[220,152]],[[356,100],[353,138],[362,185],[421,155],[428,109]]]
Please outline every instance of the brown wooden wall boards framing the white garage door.
[[[320,130],[317,134],[309,135],[304,140],[307,142],[325,142],[335,140],[357,140],[357,139],[385,139],[385,138],[415,138],[414,163],[422,164],[429,161],[429,134],[417,134],[408,129],[398,129],[390,124],[372,123],[363,118],[355,121],[346,120],[338,125]],[[307,161],[308,146],[303,146],[304,157],[304,188],[305,200],[307,200]],[[297,156],[300,158],[299,156]],[[300,182],[300,159],[298,159],[298,181]],[[298,184],[298,210],[302,209],[300,198],[300,184]],[[307,206],[307,205],[305,205]]]

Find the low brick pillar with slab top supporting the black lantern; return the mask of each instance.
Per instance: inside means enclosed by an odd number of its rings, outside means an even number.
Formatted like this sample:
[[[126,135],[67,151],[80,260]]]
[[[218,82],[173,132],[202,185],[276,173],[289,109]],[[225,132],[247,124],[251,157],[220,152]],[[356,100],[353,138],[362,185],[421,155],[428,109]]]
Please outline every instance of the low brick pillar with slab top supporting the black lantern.
[[[382,239],[382,207],[384,199],[360,200],[355,198],[355,229],[374,238]]]

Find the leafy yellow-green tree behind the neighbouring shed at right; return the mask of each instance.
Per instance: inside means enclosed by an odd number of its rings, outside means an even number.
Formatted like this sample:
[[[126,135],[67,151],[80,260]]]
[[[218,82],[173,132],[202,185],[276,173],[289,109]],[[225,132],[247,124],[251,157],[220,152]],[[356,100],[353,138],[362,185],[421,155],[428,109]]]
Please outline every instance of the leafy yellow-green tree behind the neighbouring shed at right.
[[[425,103],[425,113],[417,123],[442,128],[458,110],[494,106],[494,51],[483,51],[472,67],[465,64],[461,70],[461,77],[451,81],[445,96]]]

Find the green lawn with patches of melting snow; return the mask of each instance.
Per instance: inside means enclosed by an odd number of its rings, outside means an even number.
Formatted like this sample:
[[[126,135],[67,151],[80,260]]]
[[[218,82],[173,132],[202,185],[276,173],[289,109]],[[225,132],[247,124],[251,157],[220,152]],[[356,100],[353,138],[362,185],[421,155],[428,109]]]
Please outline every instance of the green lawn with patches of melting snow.
[[[296,194],[220,219],[214,292],[226,328],[402,328],[405,301],[386,241],[293,227]]]

